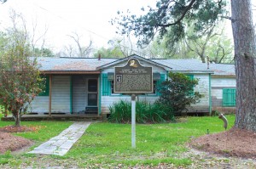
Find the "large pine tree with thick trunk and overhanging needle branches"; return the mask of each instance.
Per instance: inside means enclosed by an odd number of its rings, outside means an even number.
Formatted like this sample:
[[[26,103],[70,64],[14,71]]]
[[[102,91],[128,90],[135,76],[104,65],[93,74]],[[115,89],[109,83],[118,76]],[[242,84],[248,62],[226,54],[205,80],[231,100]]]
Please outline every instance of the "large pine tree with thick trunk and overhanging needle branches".
[[[112,20],[123,34],[134,32],[138,44],[148,44],[156,33],[163,37],[173,29],[172,42],[184,37],[184,20],[195,24],[194,32],[202,35],[220,18],[231,20],[236,64],[236,123],[238,128],[256,132],[256,47],[251,0],[232,0],[231,17],[225,16],[224,0],[160,0],[147,14],[124,15]]]

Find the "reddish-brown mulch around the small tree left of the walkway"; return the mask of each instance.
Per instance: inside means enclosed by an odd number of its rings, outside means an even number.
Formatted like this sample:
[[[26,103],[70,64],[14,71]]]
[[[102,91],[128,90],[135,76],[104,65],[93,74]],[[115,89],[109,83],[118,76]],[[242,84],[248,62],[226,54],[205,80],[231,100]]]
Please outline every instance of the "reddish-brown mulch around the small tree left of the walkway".
[[[21,138],[19,136],[14,136],[9,132],[34,132],[36,128],[34,127],[0,127],[0,154],[6,151],[16,151],[23,149],[27,146],[32,145],[32,141],[26,138]]]

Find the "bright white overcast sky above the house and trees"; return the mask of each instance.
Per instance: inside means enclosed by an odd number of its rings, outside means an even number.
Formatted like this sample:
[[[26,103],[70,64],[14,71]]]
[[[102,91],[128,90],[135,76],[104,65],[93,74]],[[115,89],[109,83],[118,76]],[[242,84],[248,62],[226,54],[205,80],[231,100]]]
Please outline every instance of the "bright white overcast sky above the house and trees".
[[[55,52],[73,42],[67,36],[73,35],[73,32],[77,32],[84,46],[92,40],[95,48],[108,47],[109,40],[119,37],[115,33],[116,26],[109,22],[118,16],[117,11],[130,9],[132,14],[141,14],[142,7],[154,7],[155,2],[156,0],[8,0],[0,4],[0,30],[10,24],[9,11],[13,8],[24,16],[28,29],[32,30],[32,25],[37,24],[37,37],[42,36],[45,29],[48,30],[46,47]],[[231,32],[230,29],[228,24],[226,32]],[[40,45],[38,42],[38,46]]]

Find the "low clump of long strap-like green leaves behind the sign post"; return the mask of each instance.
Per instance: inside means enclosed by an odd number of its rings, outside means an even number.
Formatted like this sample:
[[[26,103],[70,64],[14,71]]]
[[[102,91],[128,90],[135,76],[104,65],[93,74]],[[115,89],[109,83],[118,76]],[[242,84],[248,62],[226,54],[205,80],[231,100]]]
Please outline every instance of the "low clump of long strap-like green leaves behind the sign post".
[[[108,121],[117,123],[131,122],[131,102],[120,100],[109,107],[110,116]],[[159,123],[174,121],[172,108],[168,108],[158,102],[148,104],[138,101],[136,103],[137,123]]]

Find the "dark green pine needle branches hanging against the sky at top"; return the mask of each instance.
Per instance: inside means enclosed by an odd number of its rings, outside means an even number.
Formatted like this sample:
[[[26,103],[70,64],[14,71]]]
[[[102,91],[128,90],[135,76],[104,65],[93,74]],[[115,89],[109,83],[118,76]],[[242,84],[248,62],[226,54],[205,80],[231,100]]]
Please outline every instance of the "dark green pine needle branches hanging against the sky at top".
[[[148,13],[139,17],[118,12],[119,18],[112,20],[112,24],[119,25],[121,34],[133,32],[139,37],[139,45],[148,44],[157,33],[164,37],[168,29],[173,32],[169,34],[172,42],[177,42],[185,36],[186,25],[194,25],[195,36],[204,35],[209,25],[217,23],[226,12],[225,5],[224,0],[159,0],[156,8],[148,7]]]

